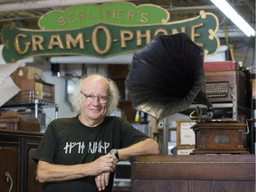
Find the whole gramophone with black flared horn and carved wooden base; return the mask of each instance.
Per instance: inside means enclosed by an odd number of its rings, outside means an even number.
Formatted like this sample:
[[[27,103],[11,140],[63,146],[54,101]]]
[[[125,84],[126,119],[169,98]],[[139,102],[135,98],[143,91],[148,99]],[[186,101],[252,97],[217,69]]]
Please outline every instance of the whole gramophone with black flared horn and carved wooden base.
[[[196,121],[194,154],[241,154],[246,124],[234,119],[212,119],[212,103],[203,91],[204,50],[188,35],[157,35],[132,57],[125,79],[132,107],[163,119],[188,109],[192,103],[205,105],[190,113]],[[167,142],[164,143],[167,145]]]

